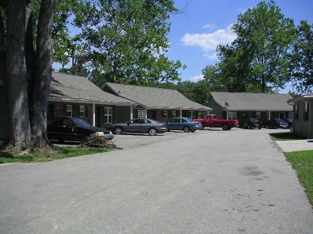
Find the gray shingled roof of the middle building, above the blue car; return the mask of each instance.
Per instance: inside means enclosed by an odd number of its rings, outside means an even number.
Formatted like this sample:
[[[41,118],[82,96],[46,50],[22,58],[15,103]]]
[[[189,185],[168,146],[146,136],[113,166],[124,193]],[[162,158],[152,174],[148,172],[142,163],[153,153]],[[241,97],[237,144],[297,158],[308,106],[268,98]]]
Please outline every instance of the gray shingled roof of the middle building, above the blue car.
[[[212,108],[202,106],[191,101],[177,90],[144,87],[126,84],[106,83],[116,94],[128,98],[151,109],[188,109],[188,110],[211,110]]]

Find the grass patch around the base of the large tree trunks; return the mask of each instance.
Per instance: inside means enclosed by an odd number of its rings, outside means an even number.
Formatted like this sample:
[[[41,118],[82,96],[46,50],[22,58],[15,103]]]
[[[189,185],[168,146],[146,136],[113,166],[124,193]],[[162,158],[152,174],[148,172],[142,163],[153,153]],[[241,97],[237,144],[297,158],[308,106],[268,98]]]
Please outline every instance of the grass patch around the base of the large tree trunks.
[[[66,157],[90,155],[110,151],[107,148],[76,148],[56,147],[56,152],[34,152],[23,156],[16,156],[15,152],[3,149],[4,143],[0,141],[0,164],[11,162],[45,162]]]

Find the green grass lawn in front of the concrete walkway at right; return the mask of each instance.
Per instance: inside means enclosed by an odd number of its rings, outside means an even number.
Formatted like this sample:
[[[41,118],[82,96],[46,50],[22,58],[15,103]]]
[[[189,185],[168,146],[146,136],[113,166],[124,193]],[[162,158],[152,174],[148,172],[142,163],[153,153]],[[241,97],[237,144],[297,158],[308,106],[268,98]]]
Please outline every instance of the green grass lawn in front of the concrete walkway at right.
[[[285,155],[297,171],[298,177],[313,205],[313,150],[286,152]]]

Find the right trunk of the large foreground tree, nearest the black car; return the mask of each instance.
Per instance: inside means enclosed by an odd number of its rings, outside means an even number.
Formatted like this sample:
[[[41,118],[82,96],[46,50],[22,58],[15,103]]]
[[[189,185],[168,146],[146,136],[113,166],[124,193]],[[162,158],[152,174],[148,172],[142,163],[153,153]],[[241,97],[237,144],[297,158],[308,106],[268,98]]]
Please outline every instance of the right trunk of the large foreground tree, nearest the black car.
[[[37,31],[37,71],[32,82],[31,131],[34,145],[45,148],[47,139],[47,105],[50,91],[53,41],[51,30],[57,0],[42,0]]]

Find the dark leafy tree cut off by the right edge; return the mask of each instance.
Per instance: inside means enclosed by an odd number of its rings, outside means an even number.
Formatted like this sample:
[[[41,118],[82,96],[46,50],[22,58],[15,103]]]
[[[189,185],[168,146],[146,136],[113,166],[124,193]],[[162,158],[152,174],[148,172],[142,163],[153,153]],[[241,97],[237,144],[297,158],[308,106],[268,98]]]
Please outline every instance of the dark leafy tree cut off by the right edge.
[[[313,25],[302,20],[291,56],[294,86],[299,93],[313,92]]]

